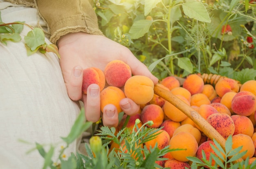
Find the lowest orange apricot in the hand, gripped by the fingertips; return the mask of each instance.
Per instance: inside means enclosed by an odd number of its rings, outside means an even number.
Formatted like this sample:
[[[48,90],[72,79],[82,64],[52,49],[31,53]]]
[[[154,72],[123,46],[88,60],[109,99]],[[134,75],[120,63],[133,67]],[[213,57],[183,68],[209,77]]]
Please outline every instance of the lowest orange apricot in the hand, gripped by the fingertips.
[[[103,108],[108,104],[115,105],[118,113],[122,111],[119,102],[123,98],[125,98],[125,95],[124,95],[124,92],[118,87],[115,87],[115,86],[106,87],[101,91],[100,97],[101,97],[100,107],[102,112],[103,112]]]

